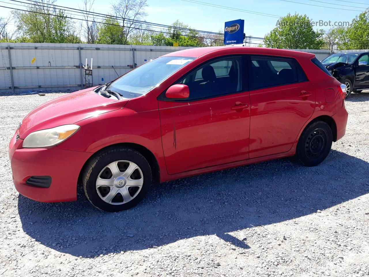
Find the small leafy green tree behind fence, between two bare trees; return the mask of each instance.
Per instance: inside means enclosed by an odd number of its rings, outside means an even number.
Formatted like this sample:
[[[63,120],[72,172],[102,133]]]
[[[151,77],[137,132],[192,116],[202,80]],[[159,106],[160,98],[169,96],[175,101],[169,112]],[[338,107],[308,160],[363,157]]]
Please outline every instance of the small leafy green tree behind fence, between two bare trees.
[[[123,27],[114,18],[106,18],[103,24],[97,27],[97,43],[102,44],[126,44],[122,37]]]

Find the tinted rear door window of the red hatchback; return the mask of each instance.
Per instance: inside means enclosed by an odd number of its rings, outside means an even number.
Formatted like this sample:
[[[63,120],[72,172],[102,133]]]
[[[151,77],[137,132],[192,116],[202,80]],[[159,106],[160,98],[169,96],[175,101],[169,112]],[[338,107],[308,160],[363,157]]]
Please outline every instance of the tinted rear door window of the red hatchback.
[[[296,60],[277,57],[251,57],[250,88],[261,89],[307,81]]]

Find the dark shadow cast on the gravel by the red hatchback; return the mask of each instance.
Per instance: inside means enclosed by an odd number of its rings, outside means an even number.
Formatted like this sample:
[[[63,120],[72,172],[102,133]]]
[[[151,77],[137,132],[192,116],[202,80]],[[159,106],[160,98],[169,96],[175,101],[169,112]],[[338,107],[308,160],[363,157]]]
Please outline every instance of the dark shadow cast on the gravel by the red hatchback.
[[[128,211],[102,212],[79,189],[76,202],[18,198],[22,228],[74,256],[141,250],[214,235],[249,248],[231,232],[299,218],[369,192],[369,163],[332,150],[317,167],[284,158],[155,185]],[[242,232],[237,232],[237,234]],[[284,234],[281,234],[282,236]]]

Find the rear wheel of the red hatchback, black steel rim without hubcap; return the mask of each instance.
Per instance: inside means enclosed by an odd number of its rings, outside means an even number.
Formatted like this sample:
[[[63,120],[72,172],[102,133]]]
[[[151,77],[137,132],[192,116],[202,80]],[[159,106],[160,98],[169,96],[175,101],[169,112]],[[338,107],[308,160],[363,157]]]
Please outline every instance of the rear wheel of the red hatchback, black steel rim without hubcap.
[[[331,127],[323,121],[306,126],[297,143],[297,159],[305,166],[313,167],[327,158],[332,147]]]

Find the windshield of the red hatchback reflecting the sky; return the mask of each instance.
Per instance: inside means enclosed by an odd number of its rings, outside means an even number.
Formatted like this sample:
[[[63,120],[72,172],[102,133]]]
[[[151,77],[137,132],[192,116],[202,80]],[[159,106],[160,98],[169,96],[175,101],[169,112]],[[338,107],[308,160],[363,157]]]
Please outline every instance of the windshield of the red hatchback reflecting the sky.
[[[138,97],[194,59],[189,57],[159,57],[153,59],[121,76],[104,90],[113,90],[120,93],[124,98]]]

